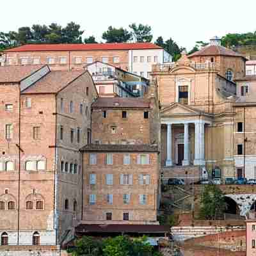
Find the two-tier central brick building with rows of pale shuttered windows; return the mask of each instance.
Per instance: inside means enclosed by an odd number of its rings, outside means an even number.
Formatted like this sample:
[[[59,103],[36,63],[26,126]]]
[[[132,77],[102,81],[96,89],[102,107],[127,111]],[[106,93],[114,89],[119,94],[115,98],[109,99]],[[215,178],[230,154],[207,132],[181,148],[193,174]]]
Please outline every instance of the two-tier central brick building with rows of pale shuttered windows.
[[[98,98],[84,159],[82,223],[157,223],[159,147],[154,99]]]

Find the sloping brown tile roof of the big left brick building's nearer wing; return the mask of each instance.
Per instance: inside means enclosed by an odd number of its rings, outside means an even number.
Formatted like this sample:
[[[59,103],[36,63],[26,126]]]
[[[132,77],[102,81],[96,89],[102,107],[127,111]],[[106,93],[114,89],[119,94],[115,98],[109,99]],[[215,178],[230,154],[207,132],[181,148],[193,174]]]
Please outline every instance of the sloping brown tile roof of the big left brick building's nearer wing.
[[[84,70],[54,70],[42,77],[35,84],[29,86],[23,93],[58,93],[61,89],[86,73]]]

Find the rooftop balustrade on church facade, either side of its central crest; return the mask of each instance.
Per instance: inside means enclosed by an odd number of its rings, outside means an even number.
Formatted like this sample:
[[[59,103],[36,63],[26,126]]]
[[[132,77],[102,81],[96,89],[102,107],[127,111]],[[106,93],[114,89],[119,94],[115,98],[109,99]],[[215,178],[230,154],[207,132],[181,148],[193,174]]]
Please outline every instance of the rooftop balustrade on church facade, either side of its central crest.
[[[168,64],[152,65],[152,72],[172,72],[173,68],[180,67],[179,62]],[[196,71],[219,71],[220,67],[215,62],[191,62],[188,67],[194,68]]]

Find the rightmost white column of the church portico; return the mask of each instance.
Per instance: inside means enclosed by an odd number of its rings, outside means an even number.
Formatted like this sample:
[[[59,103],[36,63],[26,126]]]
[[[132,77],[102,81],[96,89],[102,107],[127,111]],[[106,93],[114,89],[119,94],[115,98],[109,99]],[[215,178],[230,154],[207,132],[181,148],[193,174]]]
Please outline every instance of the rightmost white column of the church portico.
[[[205,165],[204,159],[204,121],[195,122],[195,165]]]

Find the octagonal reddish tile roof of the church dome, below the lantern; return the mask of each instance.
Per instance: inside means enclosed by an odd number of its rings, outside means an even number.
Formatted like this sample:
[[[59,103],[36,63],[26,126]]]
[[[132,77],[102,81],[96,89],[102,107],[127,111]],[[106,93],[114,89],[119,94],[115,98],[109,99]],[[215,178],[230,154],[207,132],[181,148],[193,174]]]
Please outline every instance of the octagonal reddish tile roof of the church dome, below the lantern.
[[[194,52],[188,56],[188,58],[194,56],[235,56],[235,57],[243,57],[242,54],[232,51],[226,47],[221,45],[207,45],[202,48],[200,51]]]

